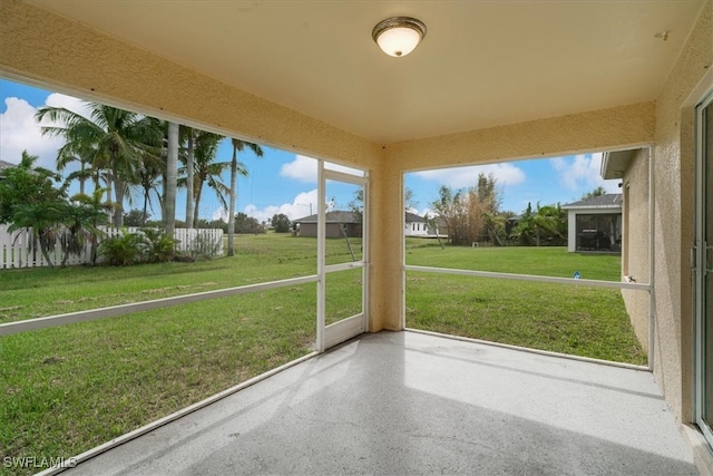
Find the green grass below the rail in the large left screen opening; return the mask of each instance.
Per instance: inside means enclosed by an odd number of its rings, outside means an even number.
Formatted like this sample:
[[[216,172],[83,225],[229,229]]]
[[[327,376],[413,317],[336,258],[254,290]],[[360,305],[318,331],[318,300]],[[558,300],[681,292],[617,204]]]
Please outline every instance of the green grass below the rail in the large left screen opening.
[[[78,455],[309,353],[314,297],[283,288],[1,338],[0,460]]]

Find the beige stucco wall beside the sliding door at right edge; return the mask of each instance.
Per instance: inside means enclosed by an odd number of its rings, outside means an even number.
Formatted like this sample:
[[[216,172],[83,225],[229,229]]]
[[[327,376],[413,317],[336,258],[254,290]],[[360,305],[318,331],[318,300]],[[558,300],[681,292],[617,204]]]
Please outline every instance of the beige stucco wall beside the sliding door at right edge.
[[[704,7],[656,101],[654,375],[681,421],[692,409],[693,109],[686,104],[713,67],[713,1]]]

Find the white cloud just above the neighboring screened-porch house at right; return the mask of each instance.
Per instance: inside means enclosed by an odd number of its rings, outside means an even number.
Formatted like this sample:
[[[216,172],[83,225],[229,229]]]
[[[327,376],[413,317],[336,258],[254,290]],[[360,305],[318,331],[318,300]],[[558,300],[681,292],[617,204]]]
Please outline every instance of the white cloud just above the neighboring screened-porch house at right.
[[[559,176],[559,183],[567,190],[582,192],[603,186],[607,193],[619,193],[618,181],[605,181],[599,175],[602,157],[602,153],[580,154],[574,158],[550,158],[549,162]]]

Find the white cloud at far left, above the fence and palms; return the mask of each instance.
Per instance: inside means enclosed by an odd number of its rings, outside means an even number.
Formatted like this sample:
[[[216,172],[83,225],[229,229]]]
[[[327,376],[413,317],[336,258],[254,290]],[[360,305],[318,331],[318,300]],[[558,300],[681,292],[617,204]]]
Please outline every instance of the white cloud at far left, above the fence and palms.
[[[37,155],[37,165],[55,168],[57,150],[64,145],[64,139],[42,136],[40,124],[35,120],[37,108],[27,100],[8,97],[4,100],[7,109],[0,114],[0,152],[3,161],[17,164],[22,150]],[[80,99],[61,94],[51,94],[45,104],[53,107],[66,107],[69,110],[87,115],[87,109]],[[42,125],[51,125],[42,123]]]

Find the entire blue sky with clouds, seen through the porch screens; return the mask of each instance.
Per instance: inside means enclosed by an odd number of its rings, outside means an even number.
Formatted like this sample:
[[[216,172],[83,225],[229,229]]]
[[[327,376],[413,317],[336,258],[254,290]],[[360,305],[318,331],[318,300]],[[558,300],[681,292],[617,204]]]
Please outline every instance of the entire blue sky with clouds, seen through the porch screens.
[[[53,168],[60,139],[42,137],[33,115],[45,105],[67,107],[81,114],[81,101],[62,94],[51,93],[26,85],[0,79],[0,158],[18,163],[27,149],[40,157],[40,165]],[[316,162],[294,153],[270,147],[264,157],[243,152],[240,161],[246,165],[247,177],[240,177],[236,210],[260,221],[275,213],[284,213],[295,220],[316,212]],[[229,161],[232,148],[228,140],[221,144],[217,161]],[[441,185],[453,188],[468,187],[477,181],[478,173],[492,173],[501,195],[501,210],[522,212],[528,202],[533,206],[551,203],[568,203],[584,193],[603,185],[611,193],[618,193],[616,181],[603,181],[599,175],[600,154],[567,157],[538,158],[485,166],[470,166],[406,175],[406,186],[413,191],[414,212],[423,214],[438,197]],[[333,167],[338,168],[338,167]],[[229,175],[223,177],[229,184]],[[333,198],[338,208],[352,200],[354,187],[328,186],[328,200]],[[140,207],[138,194],[131,207]],[[177,217],[185,216],[185,194],[179,193],[176,204]],[[219,202],[211,190],[204,191],[199,205],[202,218],[212,220],[224,214]],[[156,210],[155,216],[158,215]]]

